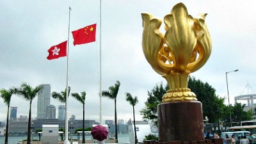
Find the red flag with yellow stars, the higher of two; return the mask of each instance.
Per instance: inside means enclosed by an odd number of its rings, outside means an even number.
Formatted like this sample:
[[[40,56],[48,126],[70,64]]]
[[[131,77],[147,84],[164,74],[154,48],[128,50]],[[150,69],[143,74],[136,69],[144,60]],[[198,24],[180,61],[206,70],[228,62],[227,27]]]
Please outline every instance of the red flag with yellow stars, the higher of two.
[[[84,28],[72,31],[74,38],[74,45],[87,44],[95,42],[96,24],[86,26]]]

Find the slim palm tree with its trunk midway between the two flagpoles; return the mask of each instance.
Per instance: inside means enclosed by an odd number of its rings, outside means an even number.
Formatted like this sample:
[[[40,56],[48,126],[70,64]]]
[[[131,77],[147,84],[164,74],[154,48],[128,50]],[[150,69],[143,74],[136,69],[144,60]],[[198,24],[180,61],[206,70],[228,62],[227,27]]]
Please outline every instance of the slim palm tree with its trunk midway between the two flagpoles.
[[[82,140],[82,143],[85,143],[85,136],[84,136],[84,105],[85,105],[86,92],[81,92],[81,95],[79,95],[78,93],[72,93],[71,95],[72,95],[72,97],[77,99],[79,102],[81,102],[81,104],[83,104],[83,140]]]

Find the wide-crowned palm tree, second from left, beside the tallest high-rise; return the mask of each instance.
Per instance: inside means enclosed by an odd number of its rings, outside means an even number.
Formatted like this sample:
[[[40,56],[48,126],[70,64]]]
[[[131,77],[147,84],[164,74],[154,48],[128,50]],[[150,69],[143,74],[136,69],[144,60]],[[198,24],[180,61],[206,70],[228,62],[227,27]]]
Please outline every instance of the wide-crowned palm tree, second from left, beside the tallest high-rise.
[[[29,100],[29,116],[28,116],[28,138],[27,144],[31,143],[31,105],[32,100],[36,97],[36,95],[43,90],[43,86],[39,85],[35,88],[32,88],[27,83],[22,83],[20,88],[17,88],[17,94],[21,95],[24,99]]]

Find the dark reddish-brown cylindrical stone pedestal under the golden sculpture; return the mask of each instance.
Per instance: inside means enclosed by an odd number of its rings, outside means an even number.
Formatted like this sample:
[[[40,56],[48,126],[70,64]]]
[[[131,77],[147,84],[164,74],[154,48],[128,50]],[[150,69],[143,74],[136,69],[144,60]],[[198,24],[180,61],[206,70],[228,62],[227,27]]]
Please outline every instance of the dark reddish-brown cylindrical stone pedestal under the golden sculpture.
[[[204,140],[202,103],[166,102],[157,106],[159,141]]]

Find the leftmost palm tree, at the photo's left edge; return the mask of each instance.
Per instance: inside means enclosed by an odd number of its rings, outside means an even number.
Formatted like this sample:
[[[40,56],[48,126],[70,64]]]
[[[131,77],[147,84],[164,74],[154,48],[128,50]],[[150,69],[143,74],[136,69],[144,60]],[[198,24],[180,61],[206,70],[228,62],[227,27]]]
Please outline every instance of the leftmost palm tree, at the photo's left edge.
[[[1,89],[0,90],[0,97],[4,100],[4,103],[7,105],[7,116],[6,116],[6,132],[5,132],[5,140],[4,143],[8,144],[8,129],[9,129],[9,109],[10,109],[10,102],[12,94],[15,93],[15,88],[10,88],[9,90]]]

